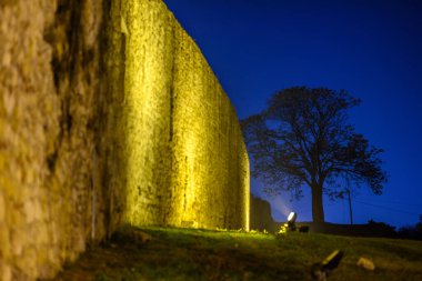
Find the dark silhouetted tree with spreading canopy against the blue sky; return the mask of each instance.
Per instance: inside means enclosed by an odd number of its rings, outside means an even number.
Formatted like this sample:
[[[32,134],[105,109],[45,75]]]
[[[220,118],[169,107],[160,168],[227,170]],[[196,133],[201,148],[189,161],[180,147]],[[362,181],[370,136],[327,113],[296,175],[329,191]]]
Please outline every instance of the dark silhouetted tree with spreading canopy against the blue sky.
[[[265,183],[264,191],[300,197],[302,187],[310,187],[314,222],[324,222],[323,193],[342,194],[341,179],[381,194],[383,150],[348,123],[348,110],[359,103],[344,90],[294,87],[274,93],[265,110],[242,120],[252,175]]]

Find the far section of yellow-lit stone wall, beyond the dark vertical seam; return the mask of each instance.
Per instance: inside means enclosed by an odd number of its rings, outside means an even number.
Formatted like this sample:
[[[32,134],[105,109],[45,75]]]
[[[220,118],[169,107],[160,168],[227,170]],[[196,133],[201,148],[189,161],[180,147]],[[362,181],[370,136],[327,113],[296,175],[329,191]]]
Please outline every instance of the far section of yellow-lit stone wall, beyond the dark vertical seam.
[[[172,205],[182,215],[173,223],[247,228],[249,162],[234,109],[197,44],[174,29]]]

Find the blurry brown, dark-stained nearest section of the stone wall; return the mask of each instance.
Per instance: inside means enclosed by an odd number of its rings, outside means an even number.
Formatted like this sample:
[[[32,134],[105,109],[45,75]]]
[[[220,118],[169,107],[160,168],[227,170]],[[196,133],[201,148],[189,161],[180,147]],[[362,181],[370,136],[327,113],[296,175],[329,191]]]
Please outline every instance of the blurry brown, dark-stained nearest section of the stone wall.
[[[52,277],[107,232],[102,9],[96,0],[0,1],[2,281]]]

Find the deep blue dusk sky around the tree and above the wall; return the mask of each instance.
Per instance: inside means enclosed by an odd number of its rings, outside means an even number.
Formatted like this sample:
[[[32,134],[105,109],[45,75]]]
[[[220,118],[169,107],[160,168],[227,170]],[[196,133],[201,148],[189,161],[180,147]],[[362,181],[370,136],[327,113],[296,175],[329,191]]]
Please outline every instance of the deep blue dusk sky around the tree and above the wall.
[[[277,90],[345,89],[362,99],[351,122],[383,148],[390,181],[381,197],[360,189],[355,223],[414,224],[422,214],[422,1],[164,0],[197,41],[240,119]],[[269,199],[277,220],[311,220],[310,193]],[[324,201],[326,221],[348,223],[345,201]]]

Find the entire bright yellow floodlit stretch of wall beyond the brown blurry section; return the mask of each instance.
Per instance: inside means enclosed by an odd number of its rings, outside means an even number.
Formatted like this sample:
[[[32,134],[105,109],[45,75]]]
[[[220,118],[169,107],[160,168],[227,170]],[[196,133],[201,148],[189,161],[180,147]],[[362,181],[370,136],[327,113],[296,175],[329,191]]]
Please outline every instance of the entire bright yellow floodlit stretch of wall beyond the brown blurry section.
[[[249,160],[234,109],[159,0],[122,1],[127,219],[248,229]]]

